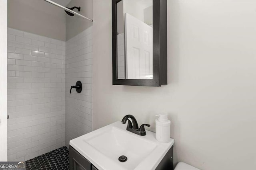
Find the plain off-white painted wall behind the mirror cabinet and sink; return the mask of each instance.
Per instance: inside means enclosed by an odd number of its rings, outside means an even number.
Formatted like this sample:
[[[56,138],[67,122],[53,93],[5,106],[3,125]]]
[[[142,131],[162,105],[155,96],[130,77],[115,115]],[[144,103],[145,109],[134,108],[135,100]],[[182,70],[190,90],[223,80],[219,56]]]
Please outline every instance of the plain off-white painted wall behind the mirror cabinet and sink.
[[[172,120],[175,162],[256,167],[256,1],[168,1],[168,85],[112,85],[111,1],[94,1],[93,129]],[[104,29],[102,29],[104,28]]]

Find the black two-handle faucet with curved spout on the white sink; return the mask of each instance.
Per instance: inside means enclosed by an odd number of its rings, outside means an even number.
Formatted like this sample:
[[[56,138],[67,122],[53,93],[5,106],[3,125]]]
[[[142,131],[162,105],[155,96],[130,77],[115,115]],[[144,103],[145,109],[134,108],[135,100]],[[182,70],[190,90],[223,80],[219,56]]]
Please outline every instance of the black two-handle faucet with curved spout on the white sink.
[[[128,118],[130,118],[132,120],[132,122]],[[128,120],[128,125],[126,127],[127,131],[130,131],[130,132],[135,133],[140,136],[146,135],[144,126],[150,127],[150,125],[142,124],[142,125],[140,125],[140,128],[139,128],[138,123],[133,115],[124,116],[124,118],[122,119],[122,123],[125,124],[127,120]]]

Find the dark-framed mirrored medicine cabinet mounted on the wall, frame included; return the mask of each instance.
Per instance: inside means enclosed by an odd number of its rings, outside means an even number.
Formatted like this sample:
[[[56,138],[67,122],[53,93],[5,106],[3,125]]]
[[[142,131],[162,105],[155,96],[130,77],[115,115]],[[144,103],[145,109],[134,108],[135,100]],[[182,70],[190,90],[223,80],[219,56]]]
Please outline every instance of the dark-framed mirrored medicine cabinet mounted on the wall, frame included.
[[[112,0],[113,84],[167,84],[166,5],[166,0]]]

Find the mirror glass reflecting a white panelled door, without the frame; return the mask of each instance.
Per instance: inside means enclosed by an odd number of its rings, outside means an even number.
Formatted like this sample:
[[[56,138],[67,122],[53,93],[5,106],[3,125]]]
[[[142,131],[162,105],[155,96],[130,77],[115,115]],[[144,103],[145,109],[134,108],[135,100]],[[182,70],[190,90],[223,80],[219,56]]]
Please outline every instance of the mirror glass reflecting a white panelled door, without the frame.
[[[117,3],[118,79],[153,78],[153,2]]]

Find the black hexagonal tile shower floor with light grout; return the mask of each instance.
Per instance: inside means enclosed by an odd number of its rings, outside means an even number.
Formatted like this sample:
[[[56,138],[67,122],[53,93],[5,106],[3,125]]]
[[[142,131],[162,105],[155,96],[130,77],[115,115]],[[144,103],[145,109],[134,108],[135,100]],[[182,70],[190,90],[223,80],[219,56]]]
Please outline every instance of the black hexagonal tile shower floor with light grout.
[[[27,160],[26,170],[69,170],[68,148],[61,147]]]

